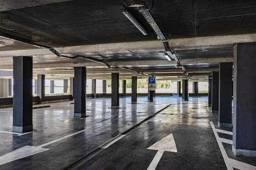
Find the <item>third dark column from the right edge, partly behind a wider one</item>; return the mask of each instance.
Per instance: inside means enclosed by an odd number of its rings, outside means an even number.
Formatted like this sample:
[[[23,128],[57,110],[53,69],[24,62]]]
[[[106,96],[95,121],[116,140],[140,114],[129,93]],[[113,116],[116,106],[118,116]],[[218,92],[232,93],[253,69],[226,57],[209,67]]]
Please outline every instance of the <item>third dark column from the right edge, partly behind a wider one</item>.
[[[211,79],[211,113],[219,113],[219,72],[212,72]]]

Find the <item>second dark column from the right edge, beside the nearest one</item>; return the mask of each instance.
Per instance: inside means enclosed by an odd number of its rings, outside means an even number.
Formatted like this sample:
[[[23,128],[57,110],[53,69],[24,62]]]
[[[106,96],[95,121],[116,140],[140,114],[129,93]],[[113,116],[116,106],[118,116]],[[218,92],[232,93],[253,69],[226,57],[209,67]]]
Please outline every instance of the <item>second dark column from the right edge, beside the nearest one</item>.
[[[232,72],[233,63],[219,66],[219,127],[232,127]]]

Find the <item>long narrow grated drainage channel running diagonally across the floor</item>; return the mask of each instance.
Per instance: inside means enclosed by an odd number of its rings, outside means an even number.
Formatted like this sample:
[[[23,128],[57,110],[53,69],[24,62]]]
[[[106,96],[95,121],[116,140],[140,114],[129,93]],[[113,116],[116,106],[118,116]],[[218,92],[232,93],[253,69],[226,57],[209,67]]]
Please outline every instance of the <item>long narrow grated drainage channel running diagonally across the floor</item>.
[[[143,124],[145,121],[148,121],[149,119],[151,119],[152,117],[155,117],[155,115],[157,115],[158,113],[162,112],[163,110],[165,110],[166,108],[168,108],[169,106],[171,106],[171,104],[169,104],[168,106],[165,106],[164,108],[162,108],[161,110],[157,111],[156,113],[154,113],[153,115],[147,117],[146,119],[140,121],[138,124],[136,124],[135,126],[132,126],[131,128],[129,128],[128,130],[122,132],[120,135],[117,135],[117,137],[110,139],[110,141],[106,142],[105,144],[103,144],[102,146],[100,146],[99,148],[93,150],[92,152],[90,152],[89,154],[85,155],[84,157],[80,158],[79,160],[73,162],[72,164],[70,164],[69,166],[67,166],[66,168],[62,169],[62,170],[75,170],[76,168],[78,168],[79,166],[81,166],[83,163],[85,163],[86,161],[88,161],[89,159],[91,159],[92,157],[94,157],[95,155],[97,155],[99,152],[103,151],[104,149],[108,148],[109,146],[111,146],[112,144],[114,144],[116,141],[120,140],[121,138],[123,138],[128,132],[136,129],[137,127],[139,127],[141,124]]]

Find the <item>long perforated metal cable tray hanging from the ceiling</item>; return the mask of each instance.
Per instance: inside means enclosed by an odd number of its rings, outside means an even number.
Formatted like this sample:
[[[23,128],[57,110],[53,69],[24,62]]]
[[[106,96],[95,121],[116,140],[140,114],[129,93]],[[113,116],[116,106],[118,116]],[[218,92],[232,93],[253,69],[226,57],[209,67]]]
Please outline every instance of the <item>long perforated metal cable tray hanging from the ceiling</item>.
[[[170,50],[168,40],[160,30],[159,26],[157,25],[157,22],[155,21],[152,13],[150,12],[146,2],[143,0],[123,0],[123,2],[126,4],[127,7],[137,7],[139,9],[139,12],[142,13],[144,18],[148,21],[150,26],[153,28],[153,30],[157,34],[157,37],[159,38],[159,40],[163,42],[166,54],[169,57],[171,57],[171,59],[175,60],[177,62],[177,66],[182,68],[182,71],[184,71],[184,73],[188,75],[188,73],[186,73],[185,67],[180,64],[181,60],[177,57],[175,51],[172,52]]]

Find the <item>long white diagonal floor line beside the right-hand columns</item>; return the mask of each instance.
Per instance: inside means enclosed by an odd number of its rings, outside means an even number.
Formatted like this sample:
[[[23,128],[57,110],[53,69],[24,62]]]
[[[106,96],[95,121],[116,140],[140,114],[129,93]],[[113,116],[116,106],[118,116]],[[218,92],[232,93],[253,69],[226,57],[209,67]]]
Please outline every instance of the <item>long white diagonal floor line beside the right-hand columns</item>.
[[[229,157],[227,156],[227,153],[226,153],[226,151],[225,151],[225,148],[224,148],[224,146],[222,145],[222,142],[220,141],[220,137],[219,137],[219,135],[218,135],[218,133],[217,133],[217,131],[216,131],[216,128],[215,128],[213,122],[210,121],[210,124],[211,124],[211,128],[212,128],[212,130],[213,130],[213,133],[214,133],[214,135],[215,135],[215,138],[216,138],[216,140],[217,140],[217,143],[218,143],[218,145],[219,145],[219,147],[220,147],[220,152],[221,152],[222,157],[223,157],[223,159],[224,159],[224,161],[225,161],[227,170],[234,170],[234,168],[231,166],[231,162],[229,161]]]

